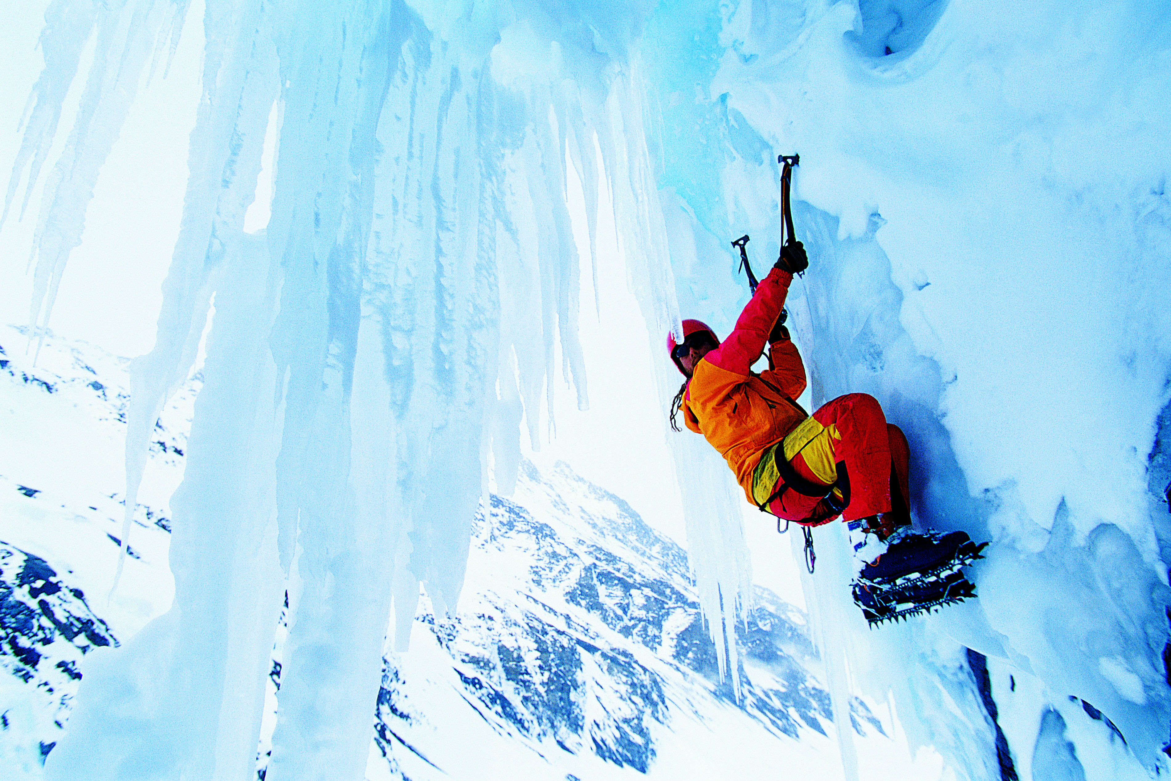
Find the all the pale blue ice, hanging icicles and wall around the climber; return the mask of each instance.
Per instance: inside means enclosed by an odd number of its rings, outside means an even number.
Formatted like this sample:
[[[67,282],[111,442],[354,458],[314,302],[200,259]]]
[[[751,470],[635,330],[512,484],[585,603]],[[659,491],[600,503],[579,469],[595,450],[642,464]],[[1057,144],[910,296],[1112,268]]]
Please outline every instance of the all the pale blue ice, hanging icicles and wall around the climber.
[[[515,485],[522,427],[532,447],[555,431],[542,416],[559,388],[588,404],[576,329],[600,187],[652,341],[680,314],[726,334],[747,300],[727,241],[752,234],[758,270],[775,256],[775,159],[793,152],[804,400],[876,396],[911,443],[917,522],[992,542],[978,602],[871,632],[841,527],[816,533],[806,601],[835,710],[860,692],[888,703],[957,777],[1002,775],[1006,756],[1038,777],[1166,769],[1165,4],[203,9],[182,228],[157,342],[130,369],[118,542],[130,552],[156,420],[214,302],[173,499],[176,597],[87,655],[49,777],[251,772],[286,590],[267,773],[361,777],[388,621],[403,648],[420,589],[454,610],[475,508],[489,480]],[[187,12],[49,6],[5,201],[7,217],[41,192],[33,326],[138,84],[196,27]],[[246,232],[266,144],[269,218]],[[665,407],[679,378],[665,356],[655,371]],[[671,446],[699,604],[739,691],[741,499],[701,440]],[[837,735],[856,777],[850,729]]]

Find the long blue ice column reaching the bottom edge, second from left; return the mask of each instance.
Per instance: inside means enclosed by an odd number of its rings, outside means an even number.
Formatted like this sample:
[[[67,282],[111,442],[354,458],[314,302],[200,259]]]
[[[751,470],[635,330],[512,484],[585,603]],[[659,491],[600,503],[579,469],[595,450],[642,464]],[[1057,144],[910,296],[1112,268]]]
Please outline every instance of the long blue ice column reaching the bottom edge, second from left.
[[[351,400],[359,345],[369,355],[376,132],[411,29],[405,6],[379,2],[296,5],[276,25],[283,116],[268,247],[285,281],[269,344],[283,381],[276,507],[292,618],[272,779],[362,777],[365,767],[393,560],[386,516],[370,506],[383,482],[357,484],[351,470],[361,460],[370,477]]]

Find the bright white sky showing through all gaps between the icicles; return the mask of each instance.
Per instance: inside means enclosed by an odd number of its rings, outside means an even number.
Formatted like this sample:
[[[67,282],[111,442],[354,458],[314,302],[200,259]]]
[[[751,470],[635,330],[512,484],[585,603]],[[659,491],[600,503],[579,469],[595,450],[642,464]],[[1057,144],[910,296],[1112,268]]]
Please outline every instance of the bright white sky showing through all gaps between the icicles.
[[[36,41],[47,5],[43,0],[12,4],[6,9],[6,25],[0,26],[0,73],[6,74],[0,87],[0,172],[5,174],[19,150],[22,114],[42,64]],[[70,255],[49,321],[56,334],[90,342],[115,355],[142,355],[155,342],[160,287],[183,210],[187,136],[200,95],[201,16],[203,4],[193,2],[170,70],[164,75],[160,68],[141,85],[102,169],[82,244]],[[91,48],[87,48],[81,73],[85,73],[85,61],[91,56]],[[80,90],[75,83],[59,132],[71,126]],[[49,165],[55,163],[61,143],[59,138]],[[271,155],[266,155],[265,164],[258,201],[246,220],[246,227],[252,229],[267,221]],[[604,173],[600,172],[600,177]],[[7,186],[7,176],[4,181]],[[522,437],[522,448],[539,467],[548,468],[556,460],[569,463],[582,477],[626,500],[648,523],[686,547],[665,437],[696,434],[670,431],[665,425],[669,399],[663,399],[662,409],[656,402],[651,362],[667,359],[666,335],[651,338],[626,286],[625,258],[617,246],[604,186],[597,229],[600,308],[595,308],[584,199],[576,172],[569,183],[570,214],[583,268],[580,328],[589,409],[577,409],[575,393],[559,371],[553,378],[559,385],[553,433],[548,410],[542,409],[543,441],[534,450]],[[13,324],[29,320],[29,252],[40,205],[37,189],[21,215],[23,180],[20,185],[8,219],[0,226],[0,317]],[[788,541],[755,508],[745,503],[742,511],[755,582],[803,605],[797,564]]]

